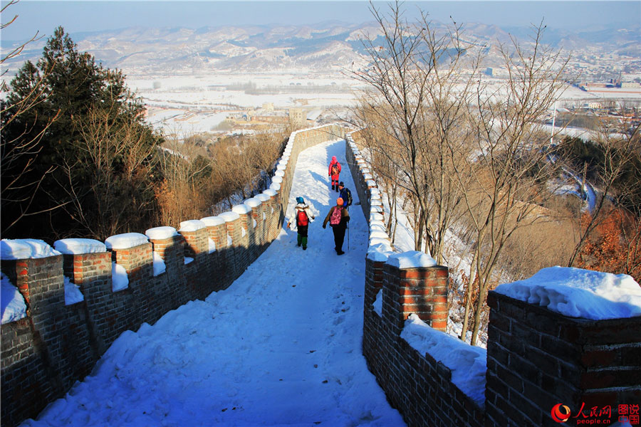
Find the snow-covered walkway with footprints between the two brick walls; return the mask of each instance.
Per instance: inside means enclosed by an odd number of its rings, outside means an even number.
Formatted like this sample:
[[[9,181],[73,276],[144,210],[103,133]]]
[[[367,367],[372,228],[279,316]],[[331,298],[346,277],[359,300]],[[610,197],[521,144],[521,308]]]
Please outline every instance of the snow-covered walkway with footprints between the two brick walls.
[[[345,142],[298,157],[289,208],[316,221],[307,251],[284,228],[228,289],[123,333],[93,373],[27,426],[404,426],[361,353],[368,224],[351,209],[336,255],[327,165],[354,189]]]

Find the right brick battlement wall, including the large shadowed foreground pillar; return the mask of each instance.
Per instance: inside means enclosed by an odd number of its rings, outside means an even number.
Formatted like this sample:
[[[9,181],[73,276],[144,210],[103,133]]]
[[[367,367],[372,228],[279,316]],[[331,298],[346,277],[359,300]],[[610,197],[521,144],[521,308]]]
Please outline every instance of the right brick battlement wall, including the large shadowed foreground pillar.
[[[486,385],[480,402],[452,382],[443,362],[408,344],[401,335],[412,313],[432,330],[445,330],[447,268],[397,268],[387,262],[391,251],[380,231],[380,191],[350,136],[345,156],[365,218],[370,218],[363,355],[408,426],[608,426],[625,415],[618,412],[620,406],[636,407],[637,418],[630,421],[641,425],[641,317],[576,319],[489,292]],[[551,416],[557,404],[570,408],[564,423]]]

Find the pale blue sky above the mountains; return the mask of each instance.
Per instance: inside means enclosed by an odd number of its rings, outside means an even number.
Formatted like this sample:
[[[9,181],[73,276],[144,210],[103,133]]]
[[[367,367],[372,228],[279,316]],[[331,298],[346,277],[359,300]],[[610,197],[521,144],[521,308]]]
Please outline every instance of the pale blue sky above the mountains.
[[[1,0],[4,6],[6,0]],[[377,6],[385,7],[384,2]],[[593,28],[600,24],[633,26],[641,22],[641,1],[406,1],[434,20],[528,25],[545,22],[552,28]],[[68,33],[130,26],[221,26],[226,24],[311,24],[328,20],[371,21],[368,1],[32,1],[9,6],[1,21],[16,14],[15,23],[0,33],[4,40],[21,40],[36,31],[50,36],[56,26]]]

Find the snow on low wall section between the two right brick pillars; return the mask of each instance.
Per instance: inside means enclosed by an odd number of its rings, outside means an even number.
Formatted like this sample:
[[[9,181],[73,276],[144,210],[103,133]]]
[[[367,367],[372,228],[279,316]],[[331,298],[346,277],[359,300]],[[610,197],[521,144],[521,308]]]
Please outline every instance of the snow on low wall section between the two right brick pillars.
[[[429,354],[452,372],[452,383],[479,406],[485,404],[487,350],[432,329],[415,314],[405,320],[401,338],[421,354]]]

